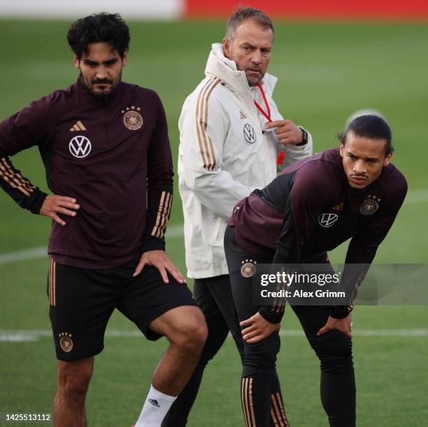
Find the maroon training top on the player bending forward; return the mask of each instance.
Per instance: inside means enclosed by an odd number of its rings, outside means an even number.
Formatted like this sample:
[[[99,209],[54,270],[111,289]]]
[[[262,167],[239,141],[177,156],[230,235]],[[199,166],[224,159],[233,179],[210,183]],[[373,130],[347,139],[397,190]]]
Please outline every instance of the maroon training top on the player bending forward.
[[[234,208],[229,224],[238,245],[297,263],[349,238],[345,263],[373,260],[406,196],[407,183],[392,164],[365,189],[348,184],[338,148],[285,168]]]

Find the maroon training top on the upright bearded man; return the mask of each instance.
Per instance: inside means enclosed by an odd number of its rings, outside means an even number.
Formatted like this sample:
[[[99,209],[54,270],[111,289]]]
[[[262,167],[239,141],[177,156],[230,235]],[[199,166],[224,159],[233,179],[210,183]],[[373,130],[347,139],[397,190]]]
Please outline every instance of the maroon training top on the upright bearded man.
[[[52,222],[48,252],[80,268],[110,268],[164,249],[173,191],[166,117],[150,89],[120,82],[106,99],[78,80],[0,123],[0,186],[31,212],[46,197],[9,156],[38,145],[54,194],[76,198],[66,226]]]

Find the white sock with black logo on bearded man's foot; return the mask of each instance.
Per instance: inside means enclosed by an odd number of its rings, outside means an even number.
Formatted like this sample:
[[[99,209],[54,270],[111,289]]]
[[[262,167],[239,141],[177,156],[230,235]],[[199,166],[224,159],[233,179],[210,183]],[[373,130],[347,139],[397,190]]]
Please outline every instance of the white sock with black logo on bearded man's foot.
[[[150,386],[150,391],[145,399],[143,410],[135,424],[135,427],[160,427],[166,412],[176,400],[177,396],[168,396]]]

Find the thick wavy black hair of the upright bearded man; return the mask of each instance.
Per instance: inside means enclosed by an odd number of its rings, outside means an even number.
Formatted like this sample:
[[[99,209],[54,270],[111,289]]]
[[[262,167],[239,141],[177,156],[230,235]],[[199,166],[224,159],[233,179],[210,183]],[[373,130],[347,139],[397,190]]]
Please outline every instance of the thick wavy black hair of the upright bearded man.
[[[80,59],[88,54],[90,43],[106,42],[117,49],[120,57],[129,46],[129,28],[118,13],[94,13],[71,24],[67,40]]]

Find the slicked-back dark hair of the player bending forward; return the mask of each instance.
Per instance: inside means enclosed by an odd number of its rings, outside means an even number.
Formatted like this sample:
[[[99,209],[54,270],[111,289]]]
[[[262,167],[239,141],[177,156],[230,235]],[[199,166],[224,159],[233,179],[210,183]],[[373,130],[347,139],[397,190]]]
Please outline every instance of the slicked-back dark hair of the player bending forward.
[[[345,131],[338,133],[337,135],[338,140],[343,145],[345,145],[346,136],[349,132],[354,133],[355,136],[385,140],[387,143],[385,155],[388,155],[394,151],[394,148],[392,147],[392,133],[390,125],[387,124],[387,122],[378,115],[360,115],[349,122]]]

